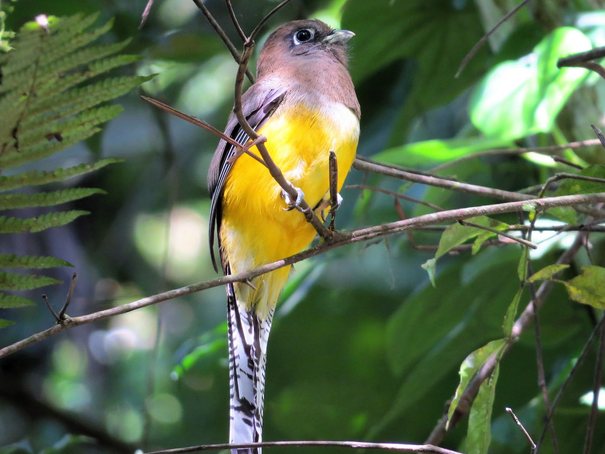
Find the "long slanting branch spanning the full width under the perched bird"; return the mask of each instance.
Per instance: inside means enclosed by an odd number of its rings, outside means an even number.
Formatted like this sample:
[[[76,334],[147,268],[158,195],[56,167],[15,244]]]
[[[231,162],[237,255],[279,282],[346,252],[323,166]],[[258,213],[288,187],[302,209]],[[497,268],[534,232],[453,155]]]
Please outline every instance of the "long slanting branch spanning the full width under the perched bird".
[[[470,208],[459,208],[449,211],[440,211],[436,213],[425,214],[411,219],[405,219],[383,225],[362,228],[351,232],[342,232],[341,235],[335,237],[331,242],[323,242],[317,246],[314,246],[313,248],[307,249],[306,251],[299,252],[298,254],[291,255],[290,257],[277,260],[273,263],[268,263],[267,265],[263,265],[249,271],[218,277],[195,285],[189,285],[168,292],[153,295],[151,297],[141,298],[140,300],[122,304],[120,306],[116,306],[115,308],[105,309],[105,311],[94,312],[93,314],[82,315],[80,317],[67,318],[66,320],[62,320],[60,324],[56,324],[53,327],[46,329],[45,331],[41,331],[24,340],[18,341],[7,347],[4,347],[3,349],[0,349],[0,358],[13,354],[21,349],[24,349],[25,347],[36,344],[61,331],[65,331],[66,329],[70,329],[81,324],[105,320],[106,318],[114,317],[115,315],[125,314],[126,312],[134,311],[136,309],[145,308],[146,306],[150,306],[151,304],[157,304],[161,303],[162,301],[172,300],[173,298],[181,297],[183,295],[189,295],[213,287],[226,285],[227,283],[246,282],[247,280],[251,280],[253,277],[257,277],[261,274],[265,274],[267,272],[283,268],[284,266],[293,265],[294,263],[300,262],[301,260],[304,260],[306,258],[315,257],[316,255],[323,254],[324,252],[339,248],[341,246],[350,245],[352,243],[373,240],[379,237],[384,237],[385,235],[392,235],[395,233],[403,232],[408,229],[415,229],[443,222],[453,222],[460,219],[468,219],[469,217],[475,217],[480,215],[493,215],[513,211],[544,210],[548,208],[553,208],[555,206],[572,206],[582,205],[585,203],[599,202],[605,202],[605,192],[597,192],[596,194],[580,194],[575,196],[547,197],[545,199],[532,199],[524,200],[521,202],[497,203],[495,205],[472,206]],[[582,232],[580,235],[584,235],[584,232]],[[578,246],[578,248],[579,247],[580,246]],[[572,246],[572,248],[568,249],[566,254],[569,253],[569,251],[573,250],[574,249]],[[571,257],[569,258],[569,260],[571,260]],[[548,283],[545,283],[540,286],[540,289],[543,288],[543,286],[545,286],[546,284]],[[540,294],[540,290],[538,290],[538,294]],[[526,313],[523,312],[519,320],[522,320],[523,317],[528,317],[525,314]],[[519,320],[517,321],[517,323],[521,323]],[[522,326],[524,327],[525,324],[529,323],[529,321],[525,320],[525,318],[523,318],[523,320],[524,321]],[[529,315],[529,320],[531,320],[531,315]],[[517,326],[517,324],[515,324],[515,326]],[[517,329],[520,329],[522,331],[522,328],[520,327],[518,327]],[[513,332],[515,333],[515,327],[513,327]],[[514,337],[518,337],[518,334],[520,334],[520,332],[514,334]]]

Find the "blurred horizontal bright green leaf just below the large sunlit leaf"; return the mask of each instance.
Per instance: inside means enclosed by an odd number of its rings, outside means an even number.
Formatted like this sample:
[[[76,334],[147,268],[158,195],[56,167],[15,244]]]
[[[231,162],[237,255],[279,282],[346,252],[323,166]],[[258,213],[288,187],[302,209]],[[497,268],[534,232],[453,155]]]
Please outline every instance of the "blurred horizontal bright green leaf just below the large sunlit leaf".
[[[374,154],[372,159],[397,165],[425,166],[431,163],[447,162],[479,151],[510,146],[514,146],[511,140],[486,137],[424,140],[389,148]]]

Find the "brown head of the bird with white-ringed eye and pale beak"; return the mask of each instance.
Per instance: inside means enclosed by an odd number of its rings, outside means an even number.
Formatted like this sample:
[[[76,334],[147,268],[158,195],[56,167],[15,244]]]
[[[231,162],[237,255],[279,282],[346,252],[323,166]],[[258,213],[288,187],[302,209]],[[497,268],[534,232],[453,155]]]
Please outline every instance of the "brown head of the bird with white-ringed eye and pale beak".
[[[355,35],[334,30],[325,22],[292,21],[276,28],[263,46],[257,65],[258,79],[287,67],[318,61],[347,66],[347,41]]]

